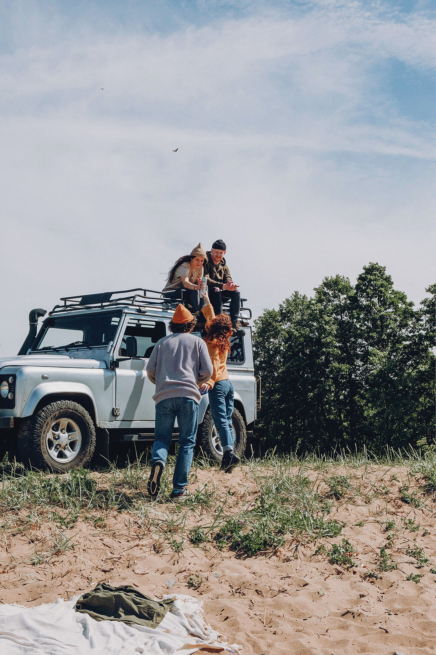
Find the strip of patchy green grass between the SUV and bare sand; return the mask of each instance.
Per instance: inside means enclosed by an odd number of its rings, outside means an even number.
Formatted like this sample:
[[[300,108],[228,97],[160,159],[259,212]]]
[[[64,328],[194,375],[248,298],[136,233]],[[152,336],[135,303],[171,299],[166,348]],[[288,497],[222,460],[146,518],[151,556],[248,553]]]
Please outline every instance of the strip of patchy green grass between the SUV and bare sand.
[[[275,553],[282,546],[294,548],[297,554],[302,542],[316,544],[320,539],[341,535],[345,524],[331,518],[330,512],[344,502],[345,496],[347,502],[372,502],[374,496],[369,494],[367,482],[363,484],[360,479],[363,481],[367,472],[377,466],[407,468],[409,484],[414,476],[413,488],[403,485],[400,493],[404,498],[407,496],[409,504],[415,502],[418,506],[434,481],[433,460],[434,453],[430,449],[424,455],[416,451],[394,453],[388,449],[385,458],[371,457],[367,451],[343,451],[333,457],[305,455],[303,458],[292,453],[277,455],[273,451],[262,460],[243,461],[244,475],[251,485],[250,491],[247,486],[245,495],[242,491],[235,496],[231,489],[226,493],[209,481],[194,491],[182,508],[168,502],[174,456],[167,459],[157,499],[151,499],[146,491],[150,469],[144,456],[133,461],[120,459],[105,470],[78,469],[63,475],[27,471],[20,464],[3,460],[0,464],[0,534],[25,534],[35,529],[35,525],[51,521],[53,543],[50,548],[44,546],[44,552],[39,549],[32,555],[34,561],[46,561],[54,552],[73,548],[71,533],[80,521],[87,521],[95,530],[106,531],[111,513],[127,512],[137,536],[152,535],[156,540],[156,552],[171,548],[180,553],[186,548],[186,542],[190,542],[193,546],[209,544],[209,547],[229,548],[244,557]],[[340,475],[335,473],[337,469]],[[205,470],[210,470],[209,460],[195,458],[190,482],[205,479],[201,476]],[[390,477],[396,479],[395,474]],[[386,494],[380,484],[371,483],[371,493],[377,495],[377,490]],[[185,534],[187,517],[190,522]],[[192,517],[195,517],[194,523]],[[364,521],[356,523],[363,524]],[[415,519],[403,521],[402,527],[411,532],[420,529]],[[395,521],[387,521],[383,529],[388,533],[386,546],[393,546],[399,530]],[[61,534],[66,540],[61,540]],[[380,551],[380,571],[392,570],[395,564],[386,546],[384,555]],[[354,565],[354,547],[347,540],[333,546],[327,544],[324,548],[329,561],[344,568]],[[322,554],[322,550],[317,552]],[[412,552],[410,554],[415,557]],[[422,561],[419,557],[415,559],[417,564]]]

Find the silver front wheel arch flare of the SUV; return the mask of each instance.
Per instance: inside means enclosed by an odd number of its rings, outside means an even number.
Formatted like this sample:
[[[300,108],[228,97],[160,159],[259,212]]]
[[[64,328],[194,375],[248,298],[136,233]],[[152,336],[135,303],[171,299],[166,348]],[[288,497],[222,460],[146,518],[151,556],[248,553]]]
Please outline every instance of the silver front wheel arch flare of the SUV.
[[[86,384],[81,383],[39,384],[33,389],[27,403],[25,403],[22,418],[32,416],[41,407],[56,400],[71,400],[82,405],[92,418],[94,426],[98,426],[97,407],[92,391]]]

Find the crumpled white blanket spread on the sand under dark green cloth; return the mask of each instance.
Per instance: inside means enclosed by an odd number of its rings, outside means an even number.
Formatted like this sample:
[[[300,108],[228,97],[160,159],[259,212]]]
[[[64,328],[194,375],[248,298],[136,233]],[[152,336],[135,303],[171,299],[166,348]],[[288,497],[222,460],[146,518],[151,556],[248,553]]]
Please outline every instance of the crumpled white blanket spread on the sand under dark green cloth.
[[[203,620],[203,603],[192,596],[176,601],[156,629],[120,621],[96,621],[76,612],[79,596],[50,605],[0,605],[1,655],[190,655],[203,646],[237,652]]]

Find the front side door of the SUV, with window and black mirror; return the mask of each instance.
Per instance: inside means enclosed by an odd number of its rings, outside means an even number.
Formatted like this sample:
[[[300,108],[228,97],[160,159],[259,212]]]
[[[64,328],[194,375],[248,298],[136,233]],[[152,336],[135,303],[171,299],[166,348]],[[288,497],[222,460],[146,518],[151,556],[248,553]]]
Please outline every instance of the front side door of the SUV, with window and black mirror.
[[[135,342],[137,355],[119,362],[116,369],[116,407],[120,411],[117,421],[154,421],[156,387],[147,377],[146,366],[154,346],[165,333],[163,321],[141,316],[127,318],[118,357],[132,352]]]

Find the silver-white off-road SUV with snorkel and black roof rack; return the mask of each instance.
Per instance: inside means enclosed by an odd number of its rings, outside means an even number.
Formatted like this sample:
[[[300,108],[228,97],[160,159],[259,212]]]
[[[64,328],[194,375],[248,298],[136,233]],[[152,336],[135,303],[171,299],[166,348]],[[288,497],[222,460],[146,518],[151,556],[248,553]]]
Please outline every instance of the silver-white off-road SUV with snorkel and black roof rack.
[[[61,301],[39,331],[46,312],[32,310],[18,356],[0,359],[0,459],[8,451],[35,468],[59,472],[98,463],[108,457],[109,443],[153,440],[154,385],[146,365],[178,303],[143,288]],[[232,337],[227,360],[239,455],[256,419],[250,318],[243,307],[244,331]],[[197,445],[221,460],[207,394],[199,406]]]

